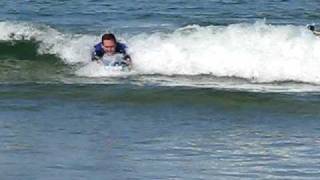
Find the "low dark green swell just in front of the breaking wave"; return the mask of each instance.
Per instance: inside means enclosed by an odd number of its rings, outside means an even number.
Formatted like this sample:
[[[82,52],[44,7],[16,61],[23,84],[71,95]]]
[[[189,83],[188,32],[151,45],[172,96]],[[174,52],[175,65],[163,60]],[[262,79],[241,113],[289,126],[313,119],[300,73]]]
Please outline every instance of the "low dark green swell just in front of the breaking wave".
[[[235,92],[183,87],[86,84],[1,85],[0,99],[88,101],[98,104],[214,106],[228,111],[261,111],[320,116],[317,94]]]

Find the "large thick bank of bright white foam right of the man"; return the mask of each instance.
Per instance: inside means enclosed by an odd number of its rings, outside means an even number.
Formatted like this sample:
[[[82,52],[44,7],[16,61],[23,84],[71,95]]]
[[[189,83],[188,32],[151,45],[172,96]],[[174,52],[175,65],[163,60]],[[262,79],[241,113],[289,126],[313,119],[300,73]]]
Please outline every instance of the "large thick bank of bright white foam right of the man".
[[[172,34],[133,37],[130,42],[140,73],[320,83],[320,39],[305,27],[193,25]]]

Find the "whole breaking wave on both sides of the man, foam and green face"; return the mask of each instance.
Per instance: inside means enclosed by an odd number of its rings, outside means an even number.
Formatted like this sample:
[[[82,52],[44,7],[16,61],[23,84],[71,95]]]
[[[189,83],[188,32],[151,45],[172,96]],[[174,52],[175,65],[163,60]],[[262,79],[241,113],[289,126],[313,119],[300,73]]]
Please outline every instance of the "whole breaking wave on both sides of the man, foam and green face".
[[[90,62],[90,49],[100,35],[67,34],[18,22],[0,22],[0,32],[1,59],[47,61],[49,55],[68,67],[82,64],[72,68],[76,76],[114,75]],[[118,36],[130,47],[135,75],[209,75],[320,84],[320,39],[303,26],[264,22],[190,25],[169,33]]]

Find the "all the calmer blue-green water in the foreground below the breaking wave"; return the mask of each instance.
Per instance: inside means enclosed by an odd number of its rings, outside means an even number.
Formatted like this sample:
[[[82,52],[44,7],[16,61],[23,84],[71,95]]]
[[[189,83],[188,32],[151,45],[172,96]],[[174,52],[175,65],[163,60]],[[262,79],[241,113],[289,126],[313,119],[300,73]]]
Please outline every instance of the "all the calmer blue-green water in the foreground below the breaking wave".
[[[0,87],[0,172],[6,179],[319,175],[318,95]]]

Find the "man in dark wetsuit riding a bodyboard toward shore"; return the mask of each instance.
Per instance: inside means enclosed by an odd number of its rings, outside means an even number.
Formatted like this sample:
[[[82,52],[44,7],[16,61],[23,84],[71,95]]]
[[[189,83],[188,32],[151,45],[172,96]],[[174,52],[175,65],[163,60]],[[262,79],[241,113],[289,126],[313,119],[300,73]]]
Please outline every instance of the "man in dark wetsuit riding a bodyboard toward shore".
[[[116,54],[122,55],[122,60],[114,65],[131,66],[131,57],[127,54],[127,46],[123,43],[117,42],[116,37],[112,33],[104,34],[101,42],[94,46],[91,54],[92,61],[101,61],[104,55],[114,56]]]

